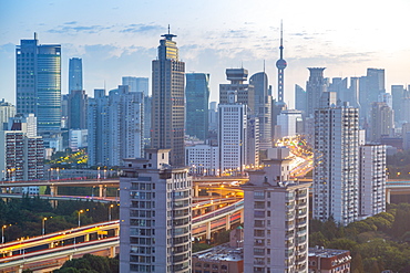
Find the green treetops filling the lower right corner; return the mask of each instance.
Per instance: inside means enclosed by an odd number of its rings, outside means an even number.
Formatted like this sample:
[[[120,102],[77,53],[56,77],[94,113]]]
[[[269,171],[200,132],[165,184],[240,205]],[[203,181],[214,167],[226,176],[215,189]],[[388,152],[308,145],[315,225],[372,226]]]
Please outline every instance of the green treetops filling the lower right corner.
[[[388,204],[387,211],[347,227],[310,221],[309,246],[349,250],[351,272],[410,272],[410,204]]]

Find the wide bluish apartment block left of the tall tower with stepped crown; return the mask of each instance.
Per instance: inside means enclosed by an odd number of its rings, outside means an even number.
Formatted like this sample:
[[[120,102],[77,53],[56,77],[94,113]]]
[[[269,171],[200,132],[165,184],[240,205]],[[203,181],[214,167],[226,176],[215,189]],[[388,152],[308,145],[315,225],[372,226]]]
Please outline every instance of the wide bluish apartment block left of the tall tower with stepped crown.
[[[127,85],[117,90],[98,90],[90,99],[89,165],[121,166],[123,158],[141,157],[144,148],[143,93],[130,92]]]

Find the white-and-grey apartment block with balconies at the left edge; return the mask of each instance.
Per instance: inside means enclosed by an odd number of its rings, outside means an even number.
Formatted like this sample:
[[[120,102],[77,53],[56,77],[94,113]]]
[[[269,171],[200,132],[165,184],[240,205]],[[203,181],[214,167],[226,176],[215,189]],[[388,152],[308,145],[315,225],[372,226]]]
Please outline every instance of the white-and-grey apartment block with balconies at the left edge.
[[[44,176],[43,140],[37,135],[34,114],[11,117],[0,129],[0,170],[2,180],[35,180]],[[37,187],[38,188],[38,187]]]

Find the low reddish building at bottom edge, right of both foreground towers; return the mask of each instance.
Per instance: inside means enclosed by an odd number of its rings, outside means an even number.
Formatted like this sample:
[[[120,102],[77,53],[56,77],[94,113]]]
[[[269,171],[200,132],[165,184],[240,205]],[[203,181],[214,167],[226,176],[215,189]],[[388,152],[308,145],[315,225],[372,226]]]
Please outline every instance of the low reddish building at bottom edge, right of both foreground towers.
[[[309,273],[350,273],[351,256],[348,250],[309,248]]]

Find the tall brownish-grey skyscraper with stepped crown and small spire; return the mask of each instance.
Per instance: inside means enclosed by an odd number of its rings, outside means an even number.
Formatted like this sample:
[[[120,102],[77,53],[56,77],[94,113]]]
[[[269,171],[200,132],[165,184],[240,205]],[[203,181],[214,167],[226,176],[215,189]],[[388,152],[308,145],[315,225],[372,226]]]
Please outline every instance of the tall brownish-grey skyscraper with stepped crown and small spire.
[[[172,166],[184,166],[185,63],[178,61],[178,49],[172,39],[162,35],[157,60],[152,62],[151,147],[171,149]]]

